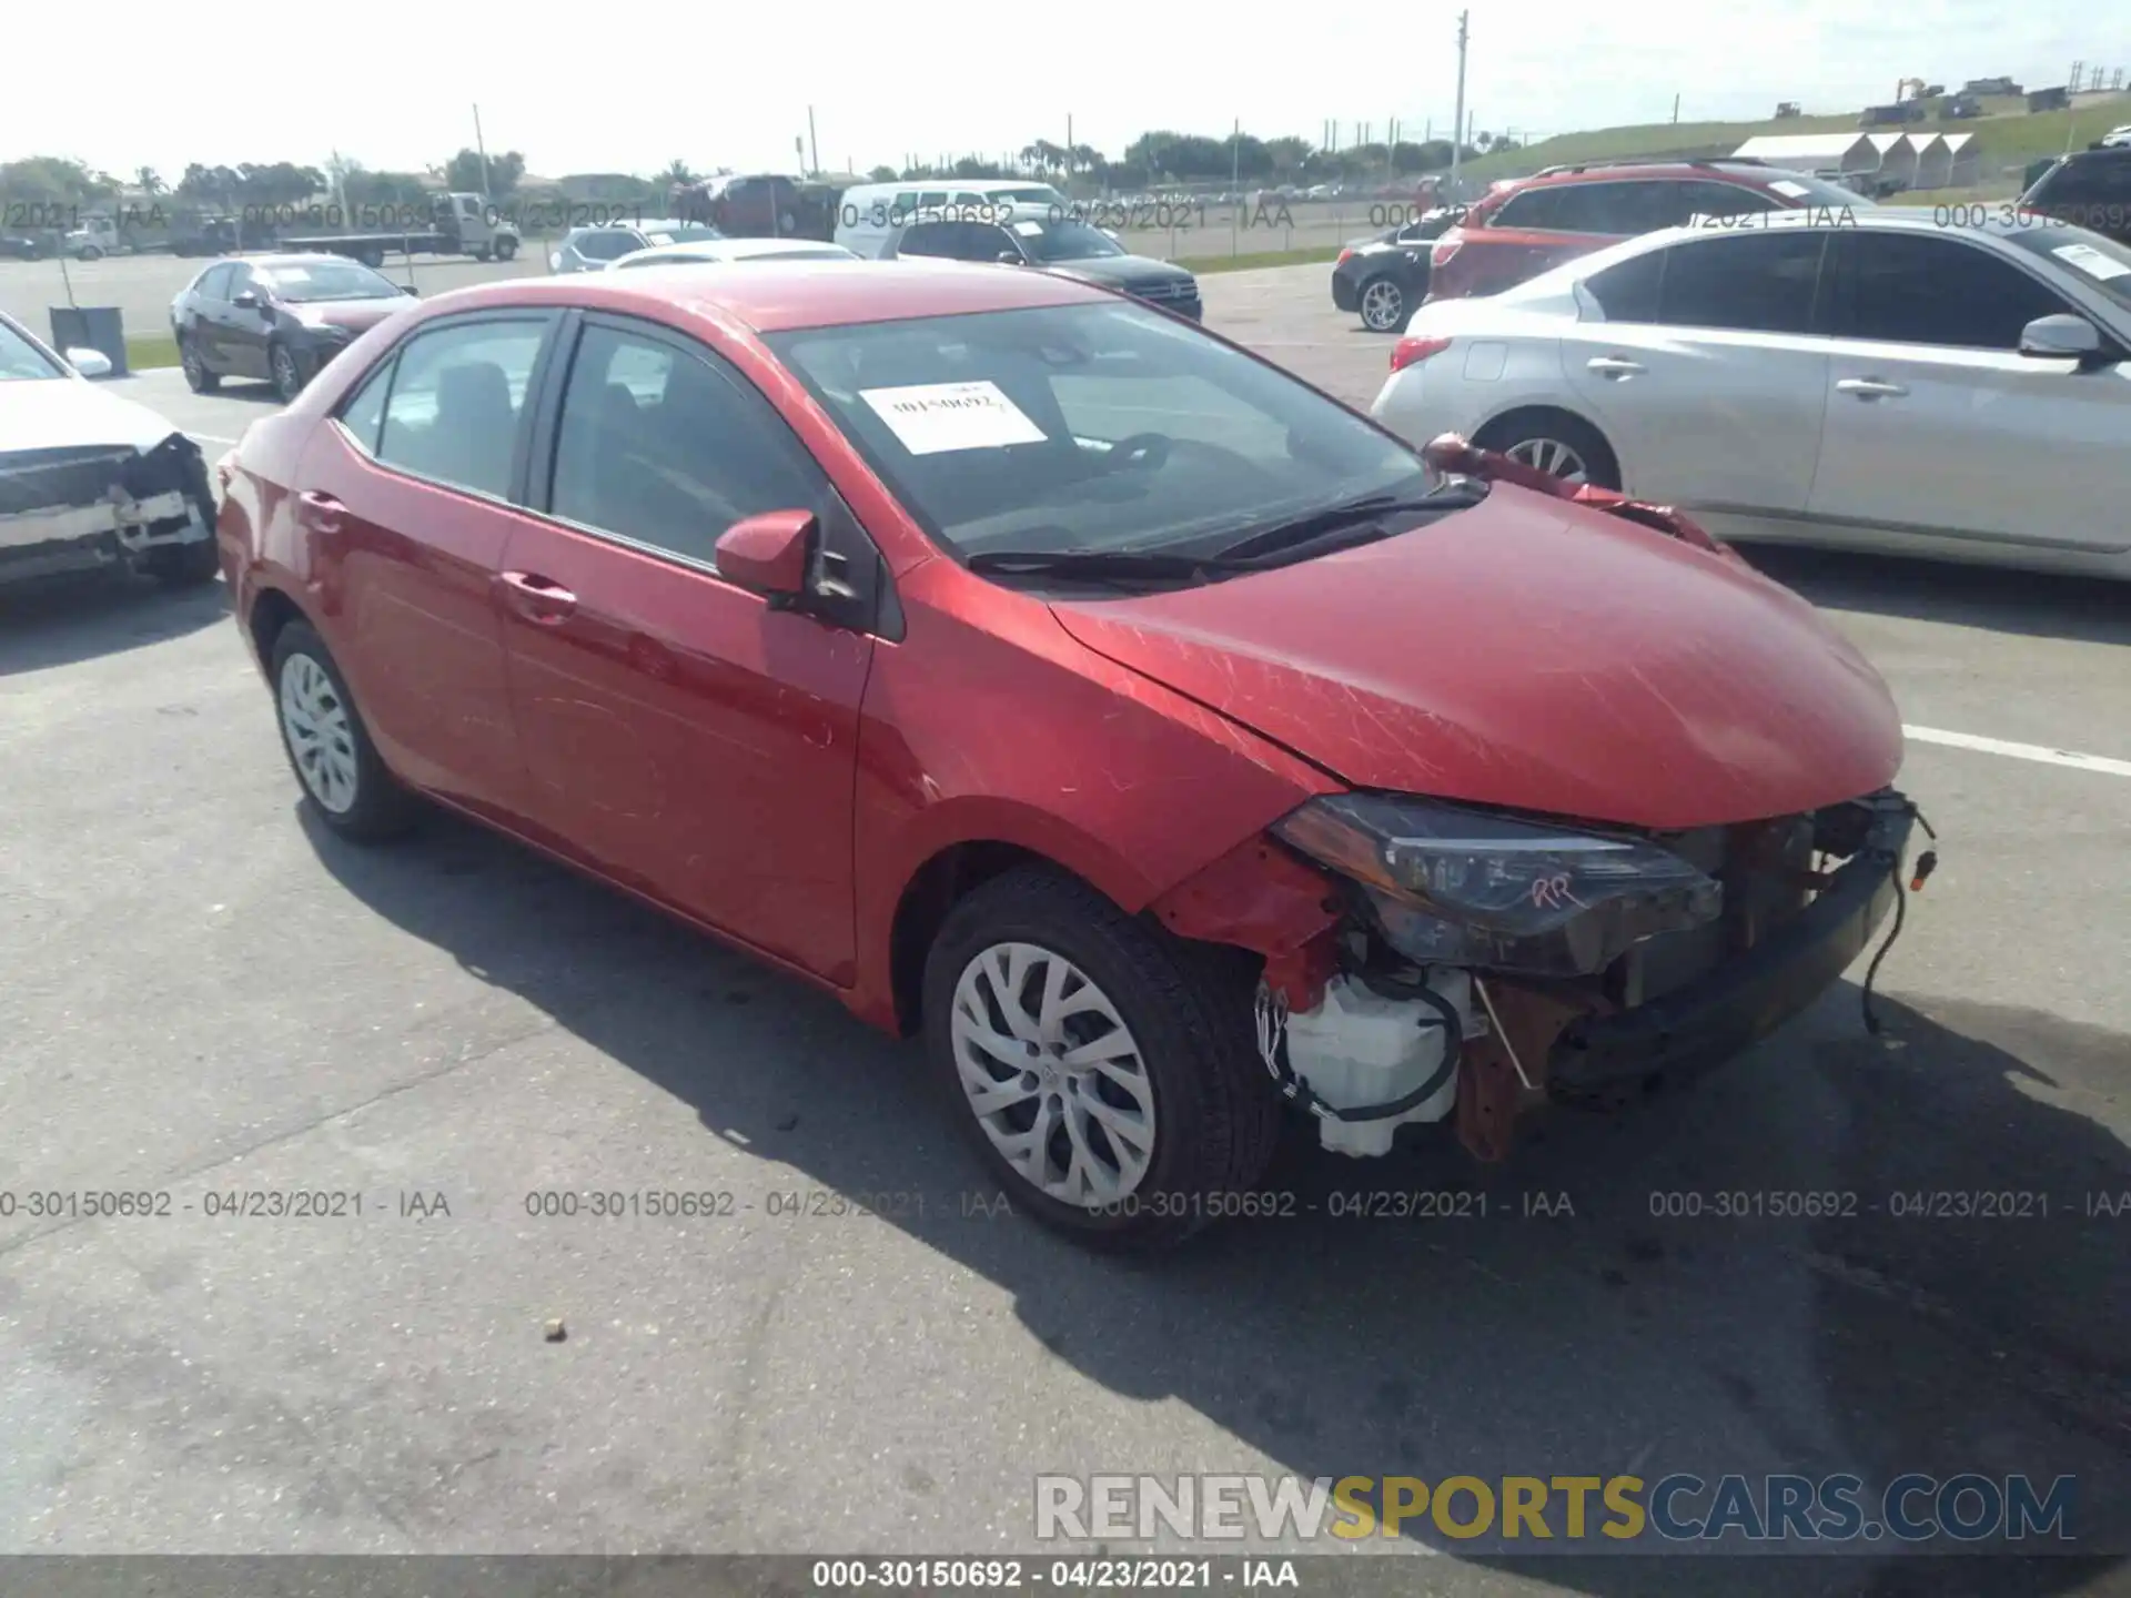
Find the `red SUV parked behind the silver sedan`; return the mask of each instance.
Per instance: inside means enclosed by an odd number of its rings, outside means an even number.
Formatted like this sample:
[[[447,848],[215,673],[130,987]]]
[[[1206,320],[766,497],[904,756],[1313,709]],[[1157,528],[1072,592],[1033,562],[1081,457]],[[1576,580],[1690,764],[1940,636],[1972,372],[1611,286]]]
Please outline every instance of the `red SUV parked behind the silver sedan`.
[[[1549,166],[1477,200],[1430,256],[1428,298],[1500,294],[1549,266],[1696,215],[1856,209],[1852,190],[1752,160]]]

